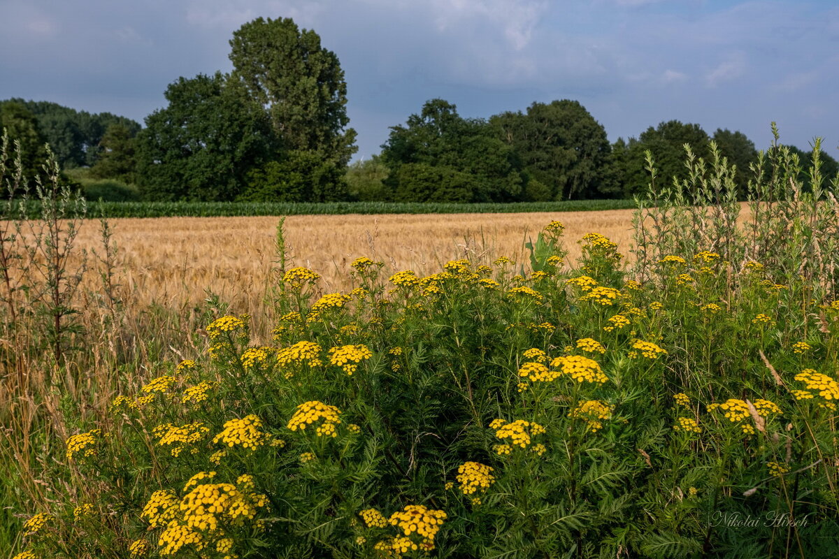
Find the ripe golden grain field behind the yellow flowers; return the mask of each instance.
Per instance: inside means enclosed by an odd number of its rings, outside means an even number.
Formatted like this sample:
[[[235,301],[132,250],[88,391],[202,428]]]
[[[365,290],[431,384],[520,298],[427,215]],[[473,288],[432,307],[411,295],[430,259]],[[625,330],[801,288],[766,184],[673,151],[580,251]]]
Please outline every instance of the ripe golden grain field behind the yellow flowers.
[[[579,256],[574,241],[595,231],[618,243],[631,241],[632,210],[539,214],[464,215],[319,215],[290,216],[285,238],[294,265],[323,277],[325,292],[348,287],[349,264],[357,256],[384,261],[393,271],[425,274],[440,262],[500,255],[527,261],[523,241],[550,220],[566,226],[570,257]],[[119,247],[119,274],[126,292],[138,300],[182,307],[197,303],[210,289],[232,303],[236,312],[254,315],[265,287],[274,281],[275,217],[154,218],[110,220]],[[84,225],[79,245],[100,243],[96,221]],[[387,268],[386,268],[387,269]]]

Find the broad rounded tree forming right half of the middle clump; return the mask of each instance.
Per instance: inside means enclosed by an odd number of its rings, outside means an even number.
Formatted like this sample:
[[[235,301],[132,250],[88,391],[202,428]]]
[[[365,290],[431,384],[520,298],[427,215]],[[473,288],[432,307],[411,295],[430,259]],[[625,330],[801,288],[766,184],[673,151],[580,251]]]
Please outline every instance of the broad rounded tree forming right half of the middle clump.
[[[504,112],[489,122],[552,199],[596,198],[616,191],[607,173],[611,147],[606,130],[579,102],[534,102],[526,114]]]

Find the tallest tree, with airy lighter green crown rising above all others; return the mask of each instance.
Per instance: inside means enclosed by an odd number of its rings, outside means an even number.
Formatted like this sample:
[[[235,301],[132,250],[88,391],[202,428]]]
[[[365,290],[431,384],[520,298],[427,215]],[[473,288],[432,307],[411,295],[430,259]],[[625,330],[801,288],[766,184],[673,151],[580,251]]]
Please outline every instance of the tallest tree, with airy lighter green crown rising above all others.
[[[356,132],[347,128],[347,83],[336,54],[293,20],[258,18],[233,33],[232,77],[267,107],[280,147],[302,150],[344,168]]]

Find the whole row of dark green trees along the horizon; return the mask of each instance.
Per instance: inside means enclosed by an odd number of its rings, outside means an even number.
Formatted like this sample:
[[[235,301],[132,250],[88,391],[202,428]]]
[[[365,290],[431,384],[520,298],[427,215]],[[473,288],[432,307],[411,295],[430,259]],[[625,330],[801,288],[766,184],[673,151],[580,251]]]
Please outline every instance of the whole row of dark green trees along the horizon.
[[[426,101],[390,127],[373,158],[350,164],[347,83],[335,53],[290,18],[258,18],[230,40],[233,70],[180,77],[167,105],[144,127],[110,113],[89,114],[45,101],[0,101],[0,127],[20,142],[34,176],[49,143],[75,178],[136,184],[161,201],[516,202],[630,197],[648,182],[644,153],[659,176],[686,178],[684,145],[709,159],[709,142],[737,166],[745,189],[755,144],[743,132],[676,120],[610,143],[578,101],[534,102],[526,111],[460,116],[443,99]],[[809,153],[791,148],[807,172]],[[822,154],[822,173],[839,164]]]

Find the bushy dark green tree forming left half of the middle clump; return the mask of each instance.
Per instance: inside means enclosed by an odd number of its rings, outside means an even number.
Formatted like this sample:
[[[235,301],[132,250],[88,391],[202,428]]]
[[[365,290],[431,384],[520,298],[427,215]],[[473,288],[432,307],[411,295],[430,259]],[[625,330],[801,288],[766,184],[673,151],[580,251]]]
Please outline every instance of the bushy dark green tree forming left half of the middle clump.
[[[411,201],[466,202],[522,198],[523,180],[513,148],[494,137],[486,121],[462,118],[457,107],[443,99],[426,101],[404,126],[391,127],[382,159],[392,170],[385,184],[399,201],[402,196]],[[421,166],[401,169],[412,164]],[[426,185],[434,177],[445,184]],[[430,198],[421,199],[423,195]]]

